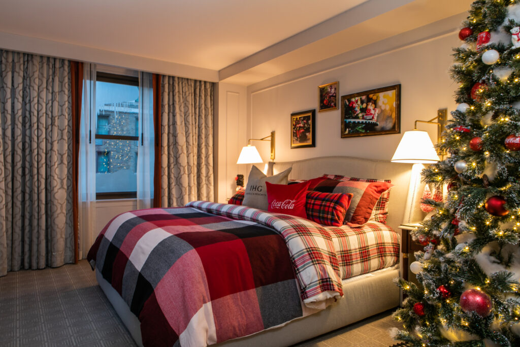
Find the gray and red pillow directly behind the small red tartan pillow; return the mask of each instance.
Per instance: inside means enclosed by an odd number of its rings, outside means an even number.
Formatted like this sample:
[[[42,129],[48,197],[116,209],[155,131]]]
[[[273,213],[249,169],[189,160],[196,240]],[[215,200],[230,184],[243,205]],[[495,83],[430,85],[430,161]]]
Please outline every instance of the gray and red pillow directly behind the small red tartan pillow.
[[[392,187],[392,184],[388,182],[341,181],[339,179],[326,178],[318,183],[313,190],[353,194],[345,214],[345,222],[365,224],[370,219],[381,194],[390,187]]]

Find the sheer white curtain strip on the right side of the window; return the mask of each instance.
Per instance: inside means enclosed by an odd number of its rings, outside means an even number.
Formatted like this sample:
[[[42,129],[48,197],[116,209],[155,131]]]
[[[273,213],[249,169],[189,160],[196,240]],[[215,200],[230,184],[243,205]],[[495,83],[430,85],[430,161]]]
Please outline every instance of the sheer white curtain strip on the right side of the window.
[[[149,209],[153,199],[152,74],[139,72],[139,147],[137,150],[137,208]]]

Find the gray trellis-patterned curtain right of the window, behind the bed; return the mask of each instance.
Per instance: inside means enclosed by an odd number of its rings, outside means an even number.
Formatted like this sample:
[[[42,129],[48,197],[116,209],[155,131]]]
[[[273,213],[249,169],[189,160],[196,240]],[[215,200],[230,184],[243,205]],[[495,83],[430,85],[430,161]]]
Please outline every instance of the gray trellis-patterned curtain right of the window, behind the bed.
[[[161,76],[161,205],[213,200],[213,83]]]

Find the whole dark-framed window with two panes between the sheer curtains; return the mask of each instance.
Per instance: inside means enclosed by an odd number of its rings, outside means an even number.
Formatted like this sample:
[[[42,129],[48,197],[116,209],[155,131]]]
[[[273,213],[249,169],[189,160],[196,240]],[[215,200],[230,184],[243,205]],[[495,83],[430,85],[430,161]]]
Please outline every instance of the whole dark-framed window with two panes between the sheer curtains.
[[[97,72],[96,110],[96,198],[135,198],[139,79]]]

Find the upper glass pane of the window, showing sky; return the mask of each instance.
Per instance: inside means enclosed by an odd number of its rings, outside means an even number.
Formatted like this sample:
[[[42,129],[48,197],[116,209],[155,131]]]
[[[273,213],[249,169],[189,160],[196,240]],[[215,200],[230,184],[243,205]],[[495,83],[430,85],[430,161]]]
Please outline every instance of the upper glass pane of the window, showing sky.
[[[139,87],[120,83],[96,82],[96,109],[96,134],[137,135]]]

